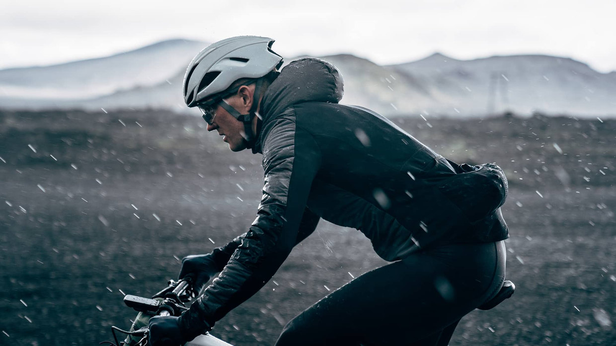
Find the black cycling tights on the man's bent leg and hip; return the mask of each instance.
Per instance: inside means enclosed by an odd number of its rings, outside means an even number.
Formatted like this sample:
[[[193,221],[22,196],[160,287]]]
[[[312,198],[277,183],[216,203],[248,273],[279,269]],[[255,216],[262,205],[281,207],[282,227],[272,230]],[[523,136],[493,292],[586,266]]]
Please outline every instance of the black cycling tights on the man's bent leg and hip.
[[[285,326],[276,345],[438,345],[460,318],[497,293],[505,257],[502,241],[411,254],[309,307]]]

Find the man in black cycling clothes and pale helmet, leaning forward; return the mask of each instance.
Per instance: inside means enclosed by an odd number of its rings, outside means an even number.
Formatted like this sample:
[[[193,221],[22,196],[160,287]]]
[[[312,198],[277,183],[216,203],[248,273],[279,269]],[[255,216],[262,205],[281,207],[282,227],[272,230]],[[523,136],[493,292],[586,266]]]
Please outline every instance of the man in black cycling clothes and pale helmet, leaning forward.
[[[303,58],[278,72],[273,43],[232,37],[188,66],[187,106],[232,151],[263,155],[263,195],[248,232],[182,261],[179,276],[192,275],[200,297],[180,317],[152,318],[150,342],[179,345],[209,331],[323,218],[360,230],[392,263],[293,318],[277,345],[436,344],[503,283],[503,172],[457,165],[383,116],[339,104],[342,77],[330,63]]]

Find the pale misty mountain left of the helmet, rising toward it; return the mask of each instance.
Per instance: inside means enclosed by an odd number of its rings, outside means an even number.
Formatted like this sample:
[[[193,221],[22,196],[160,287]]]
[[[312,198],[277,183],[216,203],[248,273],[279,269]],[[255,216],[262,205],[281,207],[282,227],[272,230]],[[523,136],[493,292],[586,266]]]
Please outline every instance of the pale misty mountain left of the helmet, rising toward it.
[[[185,69],[207,44],[172,39],[109,57],[59,65],[0,70],[0,98],[71,100],[107,95],[134,87],[152,87]],[[45,103],[45,102],[43,102]],[[62,103],[62,102],[61,102]]]

